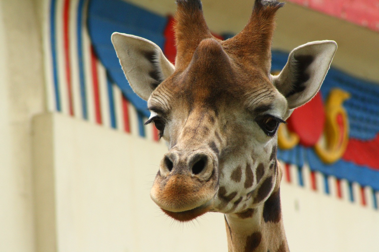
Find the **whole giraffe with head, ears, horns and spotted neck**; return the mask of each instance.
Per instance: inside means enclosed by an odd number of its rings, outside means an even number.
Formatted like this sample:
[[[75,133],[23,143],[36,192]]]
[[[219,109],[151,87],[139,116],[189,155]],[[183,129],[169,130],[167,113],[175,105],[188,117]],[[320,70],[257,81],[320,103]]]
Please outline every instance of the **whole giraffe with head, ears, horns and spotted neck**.
[[[130,86],[147,100],[169,151],[150,196],[178,221],[224,213],[228,250],[289,251],[280,207],[277,129],[318,92],[337,50],[334,41],[301,45],[273,76],[276,0],[255,0],[236,36],[219,40],[200,0],[176,0],[175,65],[153,42],[112,34]]]

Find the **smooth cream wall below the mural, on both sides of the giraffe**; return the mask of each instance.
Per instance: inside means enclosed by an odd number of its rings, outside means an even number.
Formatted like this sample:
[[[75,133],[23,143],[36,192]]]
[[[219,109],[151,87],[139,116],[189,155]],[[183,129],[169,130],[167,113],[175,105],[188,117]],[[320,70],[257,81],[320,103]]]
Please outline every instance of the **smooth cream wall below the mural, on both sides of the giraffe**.
[[[166,147],[60,114],[34,119],[37,251],[227,251],[221,213],[180,224],[149,196]],[[292,252],[377,251],[379,215],[282,181]]]

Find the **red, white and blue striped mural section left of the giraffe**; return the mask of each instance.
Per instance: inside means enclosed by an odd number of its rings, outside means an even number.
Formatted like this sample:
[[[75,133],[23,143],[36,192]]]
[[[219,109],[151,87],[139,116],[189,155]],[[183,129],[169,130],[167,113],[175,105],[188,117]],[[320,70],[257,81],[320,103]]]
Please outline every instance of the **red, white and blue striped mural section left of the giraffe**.
[[[146,111],[133,106],[139,104],[135,101],[139,98],[121,92],[95,52],[87,25],[93,13],[89,12],[89,1],[46,0],[46,5],[49,10],[46,18],[49,22],[44,27],[48,109],[128,133],[137,131],[143,137],[148,135],[143,125]],[[107,8],[111,6],[110,2]],[[104,41],[107,39],[104,37]]]

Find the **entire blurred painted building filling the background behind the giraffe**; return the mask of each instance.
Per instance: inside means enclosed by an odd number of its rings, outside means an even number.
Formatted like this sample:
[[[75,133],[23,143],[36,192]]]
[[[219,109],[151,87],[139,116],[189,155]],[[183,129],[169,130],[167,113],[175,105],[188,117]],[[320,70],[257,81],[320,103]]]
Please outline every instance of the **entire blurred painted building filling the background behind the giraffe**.
[[[204,0],[227,39],[253,0]],[[152,40],[174,63],[174,0],[0,0],[0,251],[227,251],[224,217],[180,224],[149,190],[167,151],[110,35]],[[379,1],[290,0],[272,71],[335,40],[319,94],[280,128],[291,251],[379,251]]]

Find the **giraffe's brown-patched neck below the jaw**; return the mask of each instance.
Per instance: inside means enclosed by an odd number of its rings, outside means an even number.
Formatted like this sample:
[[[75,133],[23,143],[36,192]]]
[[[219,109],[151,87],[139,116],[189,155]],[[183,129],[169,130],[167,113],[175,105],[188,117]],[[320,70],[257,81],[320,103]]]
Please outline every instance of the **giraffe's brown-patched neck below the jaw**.
[[[289,251],[280,208],[280,177],[279,172],[276,187],[263,204],[225,215],[229,252]]]

